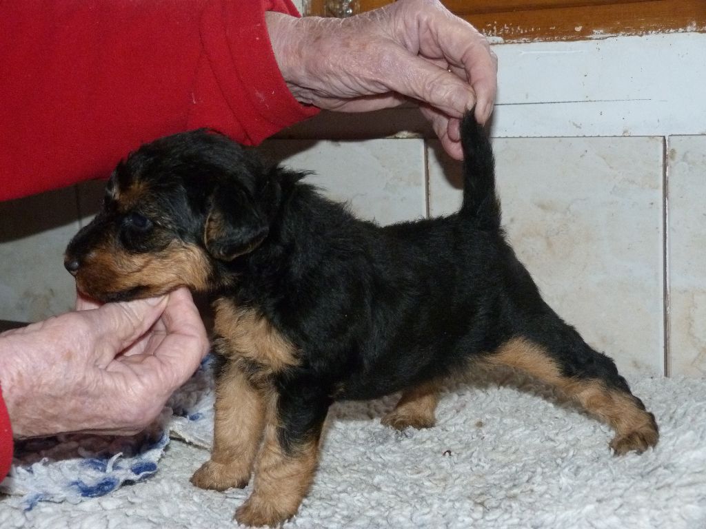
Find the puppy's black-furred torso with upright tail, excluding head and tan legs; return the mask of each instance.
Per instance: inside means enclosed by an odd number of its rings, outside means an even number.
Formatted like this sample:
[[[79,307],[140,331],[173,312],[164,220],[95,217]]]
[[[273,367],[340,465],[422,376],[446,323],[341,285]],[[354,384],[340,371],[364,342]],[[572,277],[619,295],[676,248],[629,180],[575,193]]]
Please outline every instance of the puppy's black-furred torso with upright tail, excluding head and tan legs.
[[[489,138],[470,114],[462,131],[459,213],[380,227],[299,182],[263,244],[227,265],[238,278],[227,295],[299,346],[288,379],[381,396],[493,351],[518,332],[520,305],[549,310],[503,238]]]

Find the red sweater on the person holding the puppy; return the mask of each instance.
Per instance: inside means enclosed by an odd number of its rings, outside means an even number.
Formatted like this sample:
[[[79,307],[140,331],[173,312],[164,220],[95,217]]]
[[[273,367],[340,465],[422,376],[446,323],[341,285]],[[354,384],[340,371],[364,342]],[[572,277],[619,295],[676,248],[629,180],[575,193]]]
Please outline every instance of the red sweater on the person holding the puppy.
[[[282,79],[265,11],[299,14],[289,0],[0,0],[0,200],[106,177],[163,135],[257,144],[316,114]],[[0,480],[11,447],[0,398]]]

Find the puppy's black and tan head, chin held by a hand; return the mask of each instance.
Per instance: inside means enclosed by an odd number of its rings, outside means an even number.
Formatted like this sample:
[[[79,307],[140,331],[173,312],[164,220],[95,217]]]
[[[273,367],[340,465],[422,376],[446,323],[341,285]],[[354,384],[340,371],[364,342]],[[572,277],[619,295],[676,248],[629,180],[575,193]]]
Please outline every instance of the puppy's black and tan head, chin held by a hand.
[[[197,130],[162,138],[113,172],[95,219],[73,237],[64,265],[100,301],[208,291],[224,262],[268,236],[281,195],[253,152]]]

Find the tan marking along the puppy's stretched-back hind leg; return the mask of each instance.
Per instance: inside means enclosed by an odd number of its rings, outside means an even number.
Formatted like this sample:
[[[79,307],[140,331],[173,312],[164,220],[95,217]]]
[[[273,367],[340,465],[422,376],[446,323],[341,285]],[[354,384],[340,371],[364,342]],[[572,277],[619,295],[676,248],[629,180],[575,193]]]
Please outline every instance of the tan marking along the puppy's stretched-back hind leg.
[[[512,339],[489,355],[486,361],[491,365],[507,365],[525,371],[578,401],[586,411],[616,431],[611,441],[616,454],[631,450],[642,452],[657,444],[659,433],[654,416],[640,406],[635,396],[609,389],[598,379],[564,377],[556,362],[535,343]]]

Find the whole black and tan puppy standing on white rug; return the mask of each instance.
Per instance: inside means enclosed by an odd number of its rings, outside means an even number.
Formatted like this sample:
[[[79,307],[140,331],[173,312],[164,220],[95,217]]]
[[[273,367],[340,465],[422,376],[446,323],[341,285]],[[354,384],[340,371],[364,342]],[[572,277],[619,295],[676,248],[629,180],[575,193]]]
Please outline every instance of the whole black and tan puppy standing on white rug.
[[[431,427],[438,385],[476,363],[520,368],[608,422],[617,454],[657,443],[651,413],[613,361],[542,300],[505,242],[484,130],[462,123],[460,212],[379,227],[197,131],[119,164],[102,212],[66,250],[80,291],[103,301],[180,285],[215,303],[215,441],[198,487],[253,492],[236,518],[297,513],[321,428],[341,399],[402,391],[383,418]]]

